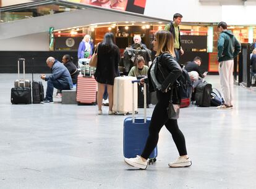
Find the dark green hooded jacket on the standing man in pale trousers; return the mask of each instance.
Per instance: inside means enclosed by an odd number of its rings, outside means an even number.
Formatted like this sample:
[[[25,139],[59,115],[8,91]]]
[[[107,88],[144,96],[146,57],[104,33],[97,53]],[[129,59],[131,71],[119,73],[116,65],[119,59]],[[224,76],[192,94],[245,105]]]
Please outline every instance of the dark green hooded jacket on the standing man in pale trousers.
[[[230,30],[221,32],[218,39],[218,62],[233,60],[241,50],[241,44]]]

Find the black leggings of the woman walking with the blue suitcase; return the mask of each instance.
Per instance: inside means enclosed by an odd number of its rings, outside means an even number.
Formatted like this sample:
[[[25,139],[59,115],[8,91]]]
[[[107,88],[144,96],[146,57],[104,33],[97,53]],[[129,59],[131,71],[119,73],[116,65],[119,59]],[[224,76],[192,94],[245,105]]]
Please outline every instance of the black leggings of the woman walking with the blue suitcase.
[[[142,153],[142,158],[148,159],[150,153],[154,150],[158,143],[159,132],[163,126],[166,126],[171,135],[173,136],[174,143],[180,156],[187,155],[186,142],[184,135],[179,126],[177,125],[177,119],[169,119],[167,113],[167,107],[170,99],[170,92],[156,91],[158,103],[153,111],[151,122],[149,126],[149,136],[147,143]]]

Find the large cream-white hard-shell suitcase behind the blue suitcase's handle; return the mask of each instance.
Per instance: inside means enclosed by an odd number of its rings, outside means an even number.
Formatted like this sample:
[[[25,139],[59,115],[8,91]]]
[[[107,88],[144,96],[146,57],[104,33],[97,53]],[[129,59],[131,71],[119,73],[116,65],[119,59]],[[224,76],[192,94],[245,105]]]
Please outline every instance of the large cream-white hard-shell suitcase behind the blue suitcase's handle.
[[[132,113],[132,87],[134,87],[134,110],[138,110],[138,89],[137,85],[132,84],[133,80],[137,78],[131,76],[114,78],[113,112],[115,114]]]

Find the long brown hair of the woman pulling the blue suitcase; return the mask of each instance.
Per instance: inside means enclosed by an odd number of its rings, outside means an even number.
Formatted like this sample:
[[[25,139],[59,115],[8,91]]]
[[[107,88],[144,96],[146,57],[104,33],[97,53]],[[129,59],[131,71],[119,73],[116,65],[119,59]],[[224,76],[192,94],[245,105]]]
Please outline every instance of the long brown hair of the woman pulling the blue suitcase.
[[[174,39],[173,34],[169,31],[160,30],[155,33],[156,41],[158,42],[158,49],[156,50],[156,56],[168,52],[175,57],[174,53]]]

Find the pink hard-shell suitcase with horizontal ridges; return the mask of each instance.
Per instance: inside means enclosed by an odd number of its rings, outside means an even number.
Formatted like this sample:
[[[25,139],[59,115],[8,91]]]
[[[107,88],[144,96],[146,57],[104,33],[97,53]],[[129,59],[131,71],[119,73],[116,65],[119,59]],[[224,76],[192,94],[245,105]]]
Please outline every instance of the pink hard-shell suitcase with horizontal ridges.
[[[94,76],[84,77],[79,74],[77,77],[77,103],[96,104],[97,82]]]

